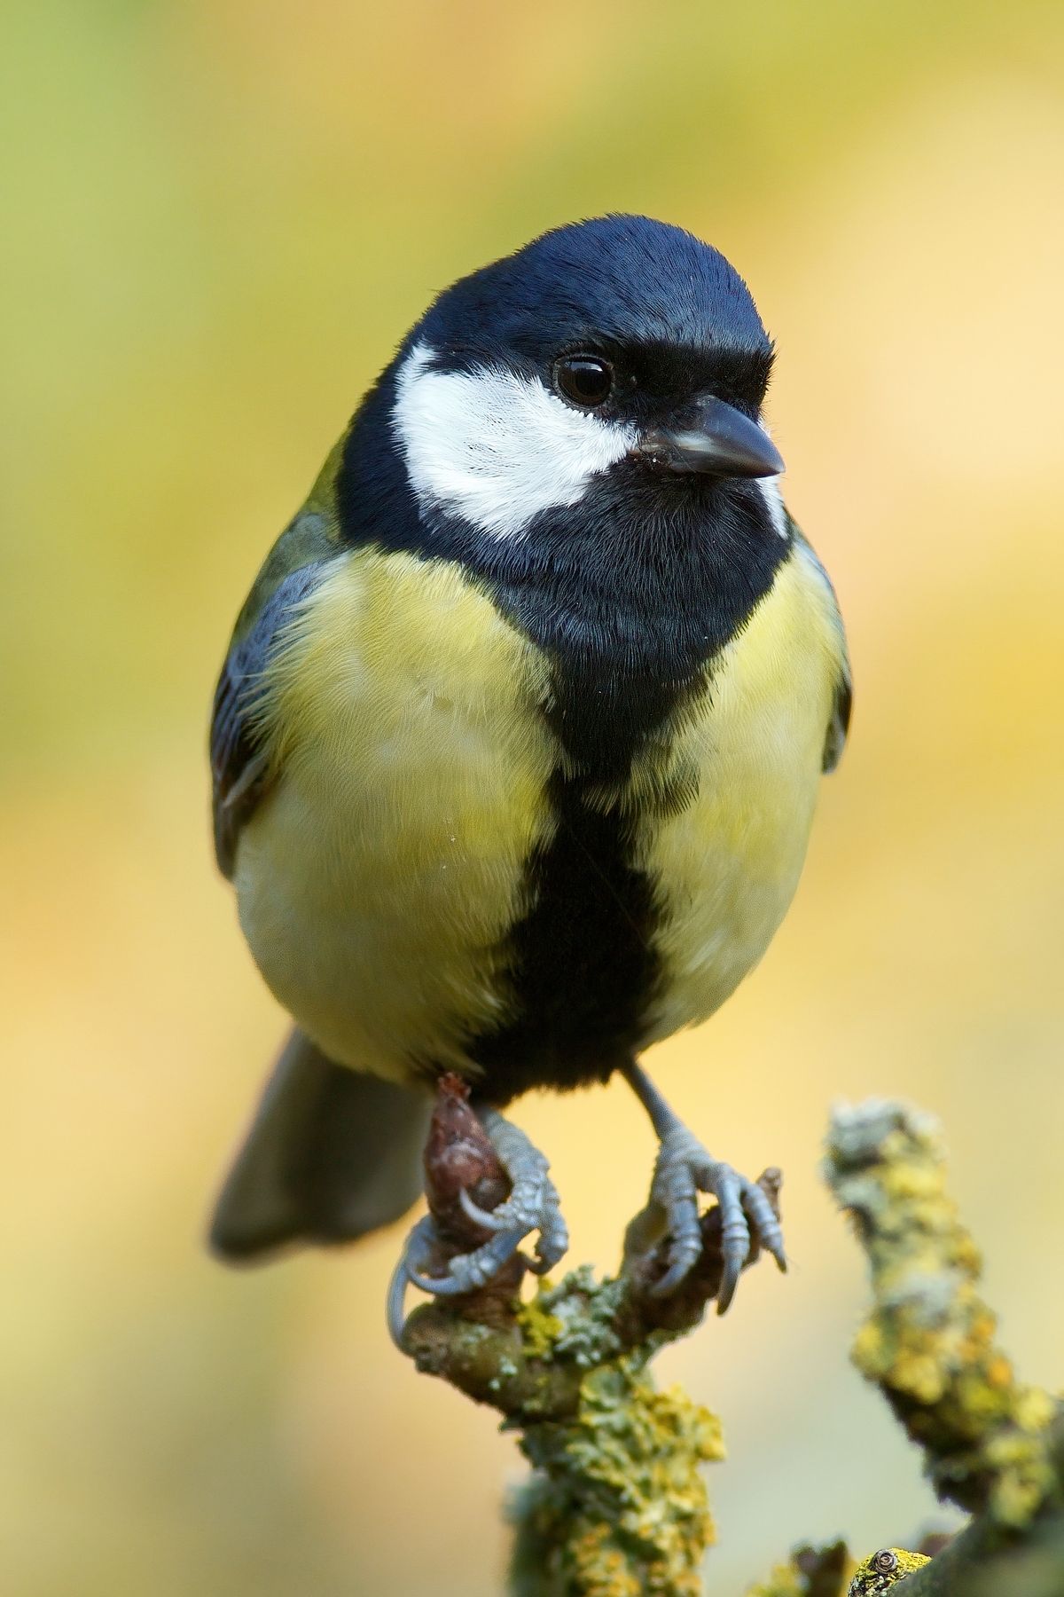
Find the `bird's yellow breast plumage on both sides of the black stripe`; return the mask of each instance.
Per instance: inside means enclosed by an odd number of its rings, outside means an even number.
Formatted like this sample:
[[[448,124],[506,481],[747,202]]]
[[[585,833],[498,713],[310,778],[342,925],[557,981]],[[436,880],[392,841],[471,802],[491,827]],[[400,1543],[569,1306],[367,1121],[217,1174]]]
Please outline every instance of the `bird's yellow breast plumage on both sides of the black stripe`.
[[[775,933],[842,650],[796,545],[705,692],[600,795],[627,816],[660,912],[643,1044],[711,1014]],[[303,602],[263,690],[276,781],[234,883],[266,982],[340,1064],[469,1070],[466,1043],[520,998],[506,939],[557,826],[547,661],[461,567],[359,551]]]

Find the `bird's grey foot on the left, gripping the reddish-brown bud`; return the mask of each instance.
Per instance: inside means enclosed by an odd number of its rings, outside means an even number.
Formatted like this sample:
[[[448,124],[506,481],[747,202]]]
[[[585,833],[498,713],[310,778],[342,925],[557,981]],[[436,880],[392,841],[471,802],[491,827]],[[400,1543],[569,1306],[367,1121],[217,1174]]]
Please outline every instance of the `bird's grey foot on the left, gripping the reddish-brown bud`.
[[[404,1326],[404,1302],[407,1287],[415,1286],[432,1297],[455,1298],[485,1287],[517,1255],[522,1242],[533,1231],[536,1258],[525,1260],[536,1274],[552,1270],[565,1257],[569,1233],[562,1215],[558,1190],[550,1180],[549,1164],[534,1143],[512,1126],[498,1110],[482,1110],[483,1131],[510,1180],[509,1196],[495,1209],[482,1209],[463,1187],[458,1204],[475,1233],[490,1236],[469,1252],[455,1252],[453,1242],[442,1234],[437,1219],[424,1215],[410,1231],[388,1294],[388,1326],[392,1338],[400,1343]],[[426,1274],[440,1255],[447,1257],[442,1274]]]

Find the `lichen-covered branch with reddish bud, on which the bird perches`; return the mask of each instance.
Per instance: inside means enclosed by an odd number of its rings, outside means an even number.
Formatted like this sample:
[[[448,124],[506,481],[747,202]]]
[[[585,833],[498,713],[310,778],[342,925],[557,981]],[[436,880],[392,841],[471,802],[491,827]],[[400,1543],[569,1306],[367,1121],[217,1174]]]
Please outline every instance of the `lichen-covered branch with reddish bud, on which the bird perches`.
[[[506,1175],[469,1110],[445,1081],[426,1150],[426,1191],[448,1254],[483,1241],[458,1195],[482,1207],[506,1196]],[[759,1182],[778,1207],[778,1171]],[[699,1597],[713,1520],[702,1466],[723,1458],[719,1423],[680,1388],[659,1391],[654,1353],[702,1319],[721,1286],[718,1211],[702,1217],[702,1257],[675,1294],[651,1289],[668,1263],[649,1215],[629,1226],[621,1273],[590,1268],[520,1302],[520,1271],[405,1322],[402,1346],[420,1370],[490,1404],[518,1433],[533,1464],[510,1517],[517,1597]],[[748,1265],[756,1258],[756,1249]]]

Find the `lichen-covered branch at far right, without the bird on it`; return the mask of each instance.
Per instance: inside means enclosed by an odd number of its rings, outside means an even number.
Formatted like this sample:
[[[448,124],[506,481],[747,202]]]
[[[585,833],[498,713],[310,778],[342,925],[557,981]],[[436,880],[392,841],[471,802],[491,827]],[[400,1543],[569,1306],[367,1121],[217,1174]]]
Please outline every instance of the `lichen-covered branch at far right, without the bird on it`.
[[[903,1578],[904,1597],[1059,1597],[1059,1405],[1019,1381],[994,1340],[995,1316],[976,1290],[979,1254],[946,1191],[935,1121],[898,1104],[841,1108],[825,1174],[871,1266],[873,1306],[853,1362],[922,1450],[938,1495],[976,1516],[930,1563],[890,1584]],[[852,1587],[863,1589],[876,1587]]]

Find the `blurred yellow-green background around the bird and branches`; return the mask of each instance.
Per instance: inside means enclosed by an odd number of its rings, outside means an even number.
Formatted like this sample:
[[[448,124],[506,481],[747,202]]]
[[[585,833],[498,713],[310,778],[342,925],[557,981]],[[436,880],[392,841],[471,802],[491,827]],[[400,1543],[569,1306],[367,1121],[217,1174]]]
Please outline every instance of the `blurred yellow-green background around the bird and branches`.
[[[250,577],[440,286],[576,216],[694,228],[778,342],[788,498],[857,714],[796,905],[652,1059],[786,1169],[796,1268],[662,1357],[724,1418],[713,1591],[930,1496],[847,1367],[837,1096],[938,1112],[1024,1373],[1064,1380],[1059,5],[187,0],[8,11],[0,1589],[488,1597],[520,1476],[388,1345],[394,1230],[230,1274],[209,1199],[284,1030],[207,845]],[[526,1100],[573,1258],[652,1143]],[[593,1158],[587,1150],[593,1148]]]

